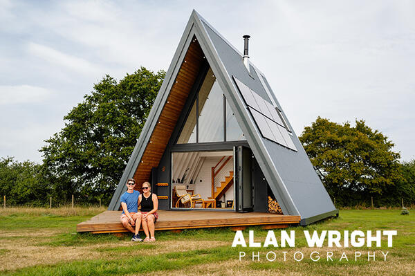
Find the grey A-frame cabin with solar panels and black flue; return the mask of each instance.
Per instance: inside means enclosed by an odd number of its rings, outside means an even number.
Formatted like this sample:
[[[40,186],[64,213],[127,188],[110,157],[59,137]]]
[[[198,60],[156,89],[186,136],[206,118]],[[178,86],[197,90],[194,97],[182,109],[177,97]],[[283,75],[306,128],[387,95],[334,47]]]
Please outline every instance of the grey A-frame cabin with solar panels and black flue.
[[[109,210],[134,178],[138,190],[151,183],[159,210],[271,208],[301,225],[338,215],[244,38],[242,55],[192,12]]]

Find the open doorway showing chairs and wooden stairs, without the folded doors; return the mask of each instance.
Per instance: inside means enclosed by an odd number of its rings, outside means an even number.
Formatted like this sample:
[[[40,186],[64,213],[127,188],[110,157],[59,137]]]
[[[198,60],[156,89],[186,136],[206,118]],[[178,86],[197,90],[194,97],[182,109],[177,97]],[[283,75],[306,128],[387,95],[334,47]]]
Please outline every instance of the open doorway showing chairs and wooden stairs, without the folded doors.
[[[235,210],[234,151],[172,153],[172,209]]]

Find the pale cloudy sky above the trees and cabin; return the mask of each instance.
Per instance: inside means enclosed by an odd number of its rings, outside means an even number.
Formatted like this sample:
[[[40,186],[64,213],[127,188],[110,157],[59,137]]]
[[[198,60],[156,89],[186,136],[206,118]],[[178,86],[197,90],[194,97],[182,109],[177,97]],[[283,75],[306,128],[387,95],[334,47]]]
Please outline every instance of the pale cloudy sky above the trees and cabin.
[[[0,158],[44,140],[93,84],[167,71],[192,10],[268,78],[297,135],[363,119],[415,158],[415,1],[0,0]]]

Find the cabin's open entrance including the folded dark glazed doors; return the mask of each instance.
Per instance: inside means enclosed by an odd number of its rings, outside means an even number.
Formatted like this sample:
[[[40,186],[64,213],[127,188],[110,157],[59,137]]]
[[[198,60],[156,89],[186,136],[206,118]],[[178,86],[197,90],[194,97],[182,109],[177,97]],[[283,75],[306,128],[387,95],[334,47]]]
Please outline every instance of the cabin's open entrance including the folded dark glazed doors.
[[[172,209],[252,212],[252,151],[172,152]]]

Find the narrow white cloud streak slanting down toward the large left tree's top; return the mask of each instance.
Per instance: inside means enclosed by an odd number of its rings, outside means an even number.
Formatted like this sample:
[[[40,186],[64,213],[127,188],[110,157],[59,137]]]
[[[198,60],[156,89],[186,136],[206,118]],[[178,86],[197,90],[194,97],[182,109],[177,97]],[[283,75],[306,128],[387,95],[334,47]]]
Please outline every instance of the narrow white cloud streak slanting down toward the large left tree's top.
[[[98,75],[100,72],[102,72],[102,69],[98,68],[98,66],[95,66],[95,64],[92,64],[85,59],[62,53],[59,50],[55,50],[54,48],[50,48],[42,44],[29,42],[28,52],[31,55],[45,59],[47,62],[56,64],[58,66],[63,66],[64,68],[68,68],[71,71],[75,71],[77,73]]]

